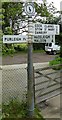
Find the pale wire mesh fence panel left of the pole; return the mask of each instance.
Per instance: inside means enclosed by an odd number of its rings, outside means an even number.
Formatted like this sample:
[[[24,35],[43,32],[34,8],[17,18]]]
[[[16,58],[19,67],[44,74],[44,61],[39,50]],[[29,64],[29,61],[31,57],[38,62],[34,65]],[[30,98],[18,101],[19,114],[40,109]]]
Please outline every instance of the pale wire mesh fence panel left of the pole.
[[[5,68],[2,71],[2,102],[26,97],[27,70],[25,68]]]

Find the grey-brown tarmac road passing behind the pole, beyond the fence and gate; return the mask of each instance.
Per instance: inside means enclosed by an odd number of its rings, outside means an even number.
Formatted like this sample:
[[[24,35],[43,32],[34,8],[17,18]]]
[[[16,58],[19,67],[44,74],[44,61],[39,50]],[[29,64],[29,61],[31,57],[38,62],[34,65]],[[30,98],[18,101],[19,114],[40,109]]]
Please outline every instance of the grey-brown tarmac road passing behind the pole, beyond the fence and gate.
[[[46,53],[33,53],[33,63],[49,62],[55,58],[56,55],[48,55]],[[27,54],[18,53],[11,56],[2,57],[2,65],[23,64],[27,63]],[[1,58],[0,58],[1,64]]]

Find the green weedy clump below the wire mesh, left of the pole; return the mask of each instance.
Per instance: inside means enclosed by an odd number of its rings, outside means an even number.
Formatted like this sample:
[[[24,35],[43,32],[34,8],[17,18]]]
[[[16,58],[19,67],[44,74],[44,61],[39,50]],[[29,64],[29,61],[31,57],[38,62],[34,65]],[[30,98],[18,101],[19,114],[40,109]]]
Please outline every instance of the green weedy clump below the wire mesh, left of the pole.
[[[3,118],[22,118],[27,115],[27,105],[24,102],[18,100],[12,100],[9,104],[2,105]]]

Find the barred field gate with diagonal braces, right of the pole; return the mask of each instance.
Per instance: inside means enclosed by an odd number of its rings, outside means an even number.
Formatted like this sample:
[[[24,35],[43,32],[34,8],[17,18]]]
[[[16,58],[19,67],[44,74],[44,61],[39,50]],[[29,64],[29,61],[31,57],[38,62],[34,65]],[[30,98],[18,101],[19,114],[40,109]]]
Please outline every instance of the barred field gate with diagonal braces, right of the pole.
[[[45,67],[35,70],[35,103],[40,104],[61,94],[62,69]]]

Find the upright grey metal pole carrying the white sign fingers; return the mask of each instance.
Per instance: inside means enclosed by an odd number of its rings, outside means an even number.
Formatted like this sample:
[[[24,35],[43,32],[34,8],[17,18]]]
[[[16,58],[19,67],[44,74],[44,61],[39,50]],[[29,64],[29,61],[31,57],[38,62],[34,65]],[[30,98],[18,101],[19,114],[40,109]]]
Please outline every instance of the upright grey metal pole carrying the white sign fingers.
[[[27,87],[27,105],[28,105],[28,116],[33,117],[34,115],[34,84],[33,84],[33,44],[32,36],[30,35],[30,18],[28,20],[28,87]]]

